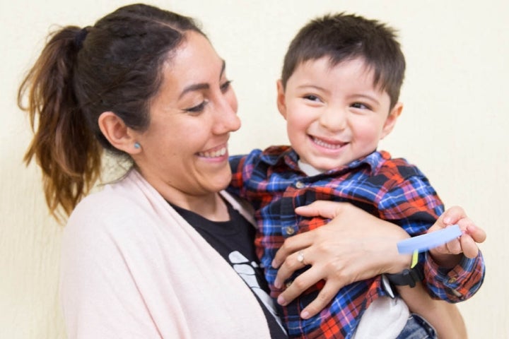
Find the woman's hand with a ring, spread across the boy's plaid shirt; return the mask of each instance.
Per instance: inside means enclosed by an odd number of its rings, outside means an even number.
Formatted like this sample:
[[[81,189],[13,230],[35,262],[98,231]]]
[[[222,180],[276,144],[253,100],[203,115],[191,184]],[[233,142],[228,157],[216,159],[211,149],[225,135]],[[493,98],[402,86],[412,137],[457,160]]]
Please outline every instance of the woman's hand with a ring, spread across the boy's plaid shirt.
[[[325,280],[320,294],[300,314],[304,319],[321,311],[341,287],[381,273],[399,273],[410,264],[411,256],[398,254],[396,246],[409,235],[350,203],[315,201],[297,208],[296,213],[332,219],[316,230],[286,239],[272,263],[279,268],[276,287],[294,271],[311,265],[281,293],[279,304],[288,304],[311,285]]]

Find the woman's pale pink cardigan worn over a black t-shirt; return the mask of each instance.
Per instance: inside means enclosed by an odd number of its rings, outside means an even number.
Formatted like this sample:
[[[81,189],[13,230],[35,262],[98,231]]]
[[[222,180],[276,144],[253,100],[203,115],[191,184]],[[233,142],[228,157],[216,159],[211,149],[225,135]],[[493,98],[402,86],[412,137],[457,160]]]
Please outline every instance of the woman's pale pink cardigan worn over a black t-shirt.
[[[61,264],[69,338],[270,337],[250,288],[135,170],[78,204]]]

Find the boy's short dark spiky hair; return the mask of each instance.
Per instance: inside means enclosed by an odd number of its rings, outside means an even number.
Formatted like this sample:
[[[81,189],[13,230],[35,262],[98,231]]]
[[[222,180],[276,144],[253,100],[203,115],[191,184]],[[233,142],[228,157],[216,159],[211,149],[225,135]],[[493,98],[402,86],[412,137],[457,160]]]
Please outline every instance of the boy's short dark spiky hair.
[[[377,20],[339,13],[311,20],[293,38],[283,63],[281,81],[308,60],[329,57],[332,66],[362,58],[375,73],[375,87],[385,90],[394,107],[401,89],[405,60],[394,29]]]

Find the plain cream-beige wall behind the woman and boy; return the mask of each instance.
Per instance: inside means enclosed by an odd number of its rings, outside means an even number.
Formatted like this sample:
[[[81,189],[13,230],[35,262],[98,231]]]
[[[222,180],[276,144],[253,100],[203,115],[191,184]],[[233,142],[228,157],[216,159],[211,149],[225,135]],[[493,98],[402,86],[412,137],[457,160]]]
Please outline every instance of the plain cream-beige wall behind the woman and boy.
[[[60,234],[40,174],[22,164],[30,139],[16,88],[53,23],[89,25],[126,1],[0,0],[0,338],[64,338],[57,297]],[[234,80],[243,127],[232,153],[286,143],[275,81],[286,46],[327,11],[399,28],[408,71],[404,114],[382,144],[428,174],[447,206],[483,226],[484,286],[461,304],[471,338],[509,338],[509,16],[507,1],[182,0],[153,4],[201,19]]]

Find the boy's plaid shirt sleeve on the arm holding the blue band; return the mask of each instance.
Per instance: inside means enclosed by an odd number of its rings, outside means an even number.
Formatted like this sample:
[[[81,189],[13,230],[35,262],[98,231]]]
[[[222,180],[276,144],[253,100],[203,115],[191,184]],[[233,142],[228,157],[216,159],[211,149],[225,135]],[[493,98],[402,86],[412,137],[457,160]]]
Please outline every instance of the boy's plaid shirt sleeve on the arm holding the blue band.
[[[444,206],[426,177],[414,175],[387,189],[378,203],[380,218],[406,230],[412,237],[425,233],[443,213]],[[435,299],[460,302],[472,297],[484,280],[484,259],[463,257],[448,270],[438,267],[429,253],[421,254],[424,283]]]

